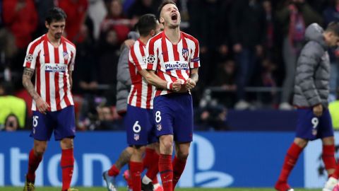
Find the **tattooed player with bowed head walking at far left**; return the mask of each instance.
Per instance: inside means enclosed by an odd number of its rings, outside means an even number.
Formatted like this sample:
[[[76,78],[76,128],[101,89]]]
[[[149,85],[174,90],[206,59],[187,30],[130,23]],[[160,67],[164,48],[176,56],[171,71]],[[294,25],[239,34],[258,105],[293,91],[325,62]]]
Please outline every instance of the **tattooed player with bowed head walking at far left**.
[[[60,141],[62,191],[70,188],[73,175],[73,138],[76,125],[74,103],[71,94],[72,71],[76,47],[62,36],[66,14],[61,8],[52,8],[47,13],[47,34],[28,45],[23,64],[23,86],[32,96],[32,132],[34,147],[28,159],[23,190],[35,190],[35,170],[39,166],[52,133]],[[31,78],[35,73],[35,86]]]

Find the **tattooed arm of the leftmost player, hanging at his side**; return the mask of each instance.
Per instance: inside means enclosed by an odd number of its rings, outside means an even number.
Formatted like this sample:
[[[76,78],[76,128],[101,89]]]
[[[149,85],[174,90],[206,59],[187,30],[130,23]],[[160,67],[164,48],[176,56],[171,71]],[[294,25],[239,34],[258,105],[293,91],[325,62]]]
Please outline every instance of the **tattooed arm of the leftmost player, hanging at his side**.
[[[30,96],[33,98],[33,100],[35,100],[37,109],[40,112],[46,114],[46,111],[49,108],[49,105],[44,100],[42,100],[39,94],[37,94],[37,91],[35,91],[35,88],[31,81],[33,74],[34,74],[34,69],[30,69],[26,67],[25,69],[23,69],[23,87],[26,88],[28,93],[30,93]]]

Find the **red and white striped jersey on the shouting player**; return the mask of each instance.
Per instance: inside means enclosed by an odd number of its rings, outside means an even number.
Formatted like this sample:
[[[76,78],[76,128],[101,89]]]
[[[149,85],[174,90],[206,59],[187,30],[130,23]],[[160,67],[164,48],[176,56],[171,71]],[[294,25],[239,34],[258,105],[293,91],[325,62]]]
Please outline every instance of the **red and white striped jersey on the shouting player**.
[[[173,45],[165,35],[165,31],[152,37],[146,45],[147,69],[156,71],[155,74],[165,81],[174,82],[189,79],[190,69],[200,66],[199,42],[196,38],[181,32],[181,40]],[[155,96],[171,93],[157,88]]]

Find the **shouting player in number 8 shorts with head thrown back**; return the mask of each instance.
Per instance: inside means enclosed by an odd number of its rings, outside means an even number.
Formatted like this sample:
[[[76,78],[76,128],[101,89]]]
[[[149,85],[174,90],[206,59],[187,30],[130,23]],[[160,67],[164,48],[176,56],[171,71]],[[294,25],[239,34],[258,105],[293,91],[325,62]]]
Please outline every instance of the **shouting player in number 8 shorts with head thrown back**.
[[[198,40],[180,31],[180,13],[173,1],[159,7],[164,31],[151,38],[147,45],[147,69],[167,81],[157,86],[153,100],[153,117],[160,140],[159,172],[165,191],[174,190],[186,165],[193,135],[193,103],[190,90],[198,81]],[[161,86],[159,86],[161,85]],[[173,143],[175,157],[172,162]]]

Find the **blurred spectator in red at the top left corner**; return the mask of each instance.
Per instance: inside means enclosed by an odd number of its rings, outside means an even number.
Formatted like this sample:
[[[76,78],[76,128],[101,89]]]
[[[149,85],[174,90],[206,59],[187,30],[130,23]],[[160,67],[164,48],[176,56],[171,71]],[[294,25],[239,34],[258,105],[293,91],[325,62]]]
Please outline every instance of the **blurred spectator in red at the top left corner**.
[[[35,4],[33,0],[4,0],[3,11],[5,27],[14,35],[18,48],[18,52],[11,60],[11,69],[22,72],[25,48],[37,28]]]

